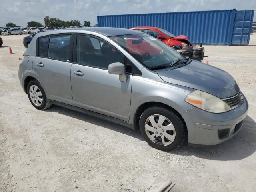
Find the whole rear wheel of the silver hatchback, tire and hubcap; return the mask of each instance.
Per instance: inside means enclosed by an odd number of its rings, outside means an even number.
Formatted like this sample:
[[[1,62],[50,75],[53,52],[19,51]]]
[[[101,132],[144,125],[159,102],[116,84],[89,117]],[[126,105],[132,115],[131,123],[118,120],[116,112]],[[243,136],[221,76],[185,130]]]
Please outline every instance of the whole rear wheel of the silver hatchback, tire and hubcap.
[[[44,89],[37,80],[31,80],[27,87],[28,98],[31,104],[38,110],[44,110],[52,106],[46,97]]]

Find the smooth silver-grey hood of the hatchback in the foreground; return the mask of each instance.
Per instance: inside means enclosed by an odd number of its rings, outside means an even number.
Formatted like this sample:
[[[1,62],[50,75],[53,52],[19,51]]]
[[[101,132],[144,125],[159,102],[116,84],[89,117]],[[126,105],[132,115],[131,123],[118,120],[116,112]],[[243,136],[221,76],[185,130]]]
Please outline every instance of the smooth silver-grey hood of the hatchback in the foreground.
[[[239,87],[230,74],[194,60],[186,66],[158,70],[157,73],[165,82],[201,90],[218,98],[231,97],[239,92]]]

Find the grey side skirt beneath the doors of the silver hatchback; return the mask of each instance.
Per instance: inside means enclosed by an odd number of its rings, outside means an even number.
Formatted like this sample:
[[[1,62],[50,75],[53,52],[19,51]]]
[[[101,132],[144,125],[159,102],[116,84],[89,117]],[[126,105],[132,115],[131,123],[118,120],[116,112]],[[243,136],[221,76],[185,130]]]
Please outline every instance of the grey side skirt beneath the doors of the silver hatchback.
[[[74,111],[77,111],[77,112],[80,112],[80,113],[84,113],[86,115],[94,116],[94,117],[97,117],[97,118],[100,118],[100,119],[103,119],[103,120],[106,120],[106,121],[110,121],[110,122],[113,122],[113,123],[116,123],[116,124],[119,124],[119,125],[122,125],[122,126],[125,126],[125,127],[128,127],[130,129],[134,130],[134,125],[133,124],[130,124],[130,123],[128,123],[126,121],[123,121],[123,120],[119,120],[117,118],[113,118],[113,117],[110,117],[110,116],[106,116],[106,115],[103,115],[103,114],[100,114],[100,113],[96,113],[96,112],[93,112],[93,111],[90,111],[90,110],[82,109],[82,108],[79,108],[79,107],[75,107],[75,106],[68,105],[68,104],[58,102],[58,101],[54,101],[54,100],[49,100],[49,102],[51,102],[53,105],[57,105],[57,106],[64,107],[64,108],[67,108],[67,109],[70,109],[70,110],[74,110]]]

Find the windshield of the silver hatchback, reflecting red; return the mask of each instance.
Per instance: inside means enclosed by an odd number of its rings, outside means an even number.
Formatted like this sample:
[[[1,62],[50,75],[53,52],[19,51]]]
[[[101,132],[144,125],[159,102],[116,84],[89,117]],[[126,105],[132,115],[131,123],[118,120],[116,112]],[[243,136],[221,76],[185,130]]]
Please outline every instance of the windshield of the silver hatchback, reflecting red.
[[[184,58],[168,45],[148,34],[112,36],[110,38],[147,68],[159,65],[169,66],[178,58]]]

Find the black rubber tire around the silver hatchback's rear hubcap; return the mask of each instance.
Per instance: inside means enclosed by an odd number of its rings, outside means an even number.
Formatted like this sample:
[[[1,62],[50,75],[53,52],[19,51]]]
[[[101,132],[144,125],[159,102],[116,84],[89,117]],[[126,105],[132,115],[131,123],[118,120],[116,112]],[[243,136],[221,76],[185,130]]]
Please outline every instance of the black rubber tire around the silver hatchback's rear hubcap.
[[[40,106],[36,106],[34,104],[34,102],[32,102],[31,98],[30,98],[30,87],[31,86],[37,86],[39,88],[39,90],[41,91],[42,93],[42,104]],[[28,99],[30,100],[31,104],[38,110],[45,110],[45,109],[48,109],[50,108],[50,106],[52,106],[52,104],[49,102],[49,100],[47,99],[46,97],[46,94],[44,92],[44,89],[42,88],[41,84],[37,81],[37,80],[31,80],[29,83],[28,83],[28,86],[27,86],[27,93],[28,93]]]

